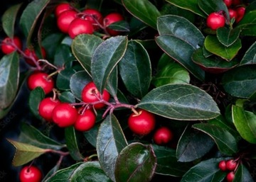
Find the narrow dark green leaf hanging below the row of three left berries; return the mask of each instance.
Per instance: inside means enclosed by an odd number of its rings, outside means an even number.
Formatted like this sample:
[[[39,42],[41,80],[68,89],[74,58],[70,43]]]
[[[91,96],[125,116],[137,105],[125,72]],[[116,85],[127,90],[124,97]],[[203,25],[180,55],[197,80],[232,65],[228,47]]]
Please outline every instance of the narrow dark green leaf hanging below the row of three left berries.
[[[80,161],[83,159],[82,154],[80,154],[78,148],[78,141],[75,135],[75,128],[73,126],[65,127],[65,141],[70,152],[70,156],[75,161]]]

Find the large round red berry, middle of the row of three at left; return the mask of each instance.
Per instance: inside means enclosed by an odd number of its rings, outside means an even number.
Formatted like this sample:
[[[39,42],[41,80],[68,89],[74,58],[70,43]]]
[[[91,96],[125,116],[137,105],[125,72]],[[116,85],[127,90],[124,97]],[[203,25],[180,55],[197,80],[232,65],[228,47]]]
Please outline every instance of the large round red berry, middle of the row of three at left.
[[[59,127],[74,125],[78,118],[78,111],[69,103],[60,103],[53,109],[53,122]]]

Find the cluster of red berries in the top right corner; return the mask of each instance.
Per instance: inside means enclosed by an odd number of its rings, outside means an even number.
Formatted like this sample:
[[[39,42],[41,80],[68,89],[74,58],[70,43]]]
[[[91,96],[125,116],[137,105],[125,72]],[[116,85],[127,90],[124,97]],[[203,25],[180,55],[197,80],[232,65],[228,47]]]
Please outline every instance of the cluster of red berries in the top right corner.
[[[230,20],[234,18],[236,23],[241,21],[245,15],[245,6],[242,4],[242,2],[240,0],[223,0],[223,2],[228,8]],[[224,27],[225,22],[226,18],[223,11],[210,13],[206,19],[207,26],[212,30],[217,30],[218,28]],[[228,22],[230,21],[228,20]]]

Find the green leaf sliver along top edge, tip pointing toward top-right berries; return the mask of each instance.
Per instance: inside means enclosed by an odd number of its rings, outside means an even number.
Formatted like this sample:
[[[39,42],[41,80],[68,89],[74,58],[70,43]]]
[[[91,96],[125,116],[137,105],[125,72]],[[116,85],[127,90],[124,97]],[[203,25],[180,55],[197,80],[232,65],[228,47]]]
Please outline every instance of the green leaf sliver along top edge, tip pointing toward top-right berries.
[[[199,8],[198,1],[197,0],[186,0],[186,1],[180,1],[180,0],[166,0],[170,4],[174,4],[175,6],[178,6],[179,8],[184,8],[188,11],[191,11],[193,13],[196,13],[199,16],[202,16],[203,18],[206,18],[206,14]]]

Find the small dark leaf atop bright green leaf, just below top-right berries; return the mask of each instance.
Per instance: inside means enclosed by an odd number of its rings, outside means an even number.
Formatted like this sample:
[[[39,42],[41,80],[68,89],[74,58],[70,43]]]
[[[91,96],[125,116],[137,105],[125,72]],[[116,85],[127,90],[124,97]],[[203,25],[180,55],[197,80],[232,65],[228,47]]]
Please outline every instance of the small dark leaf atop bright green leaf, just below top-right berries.
[[[233,28],[233,29],[229,29],[225,27],[218,28],[217,38],[220,41],[220,43],[222,43],[226,47],[229,47],[230,45],[233,45],[235,41],[238,40],[240,32],[241,32],[240,28]]]

